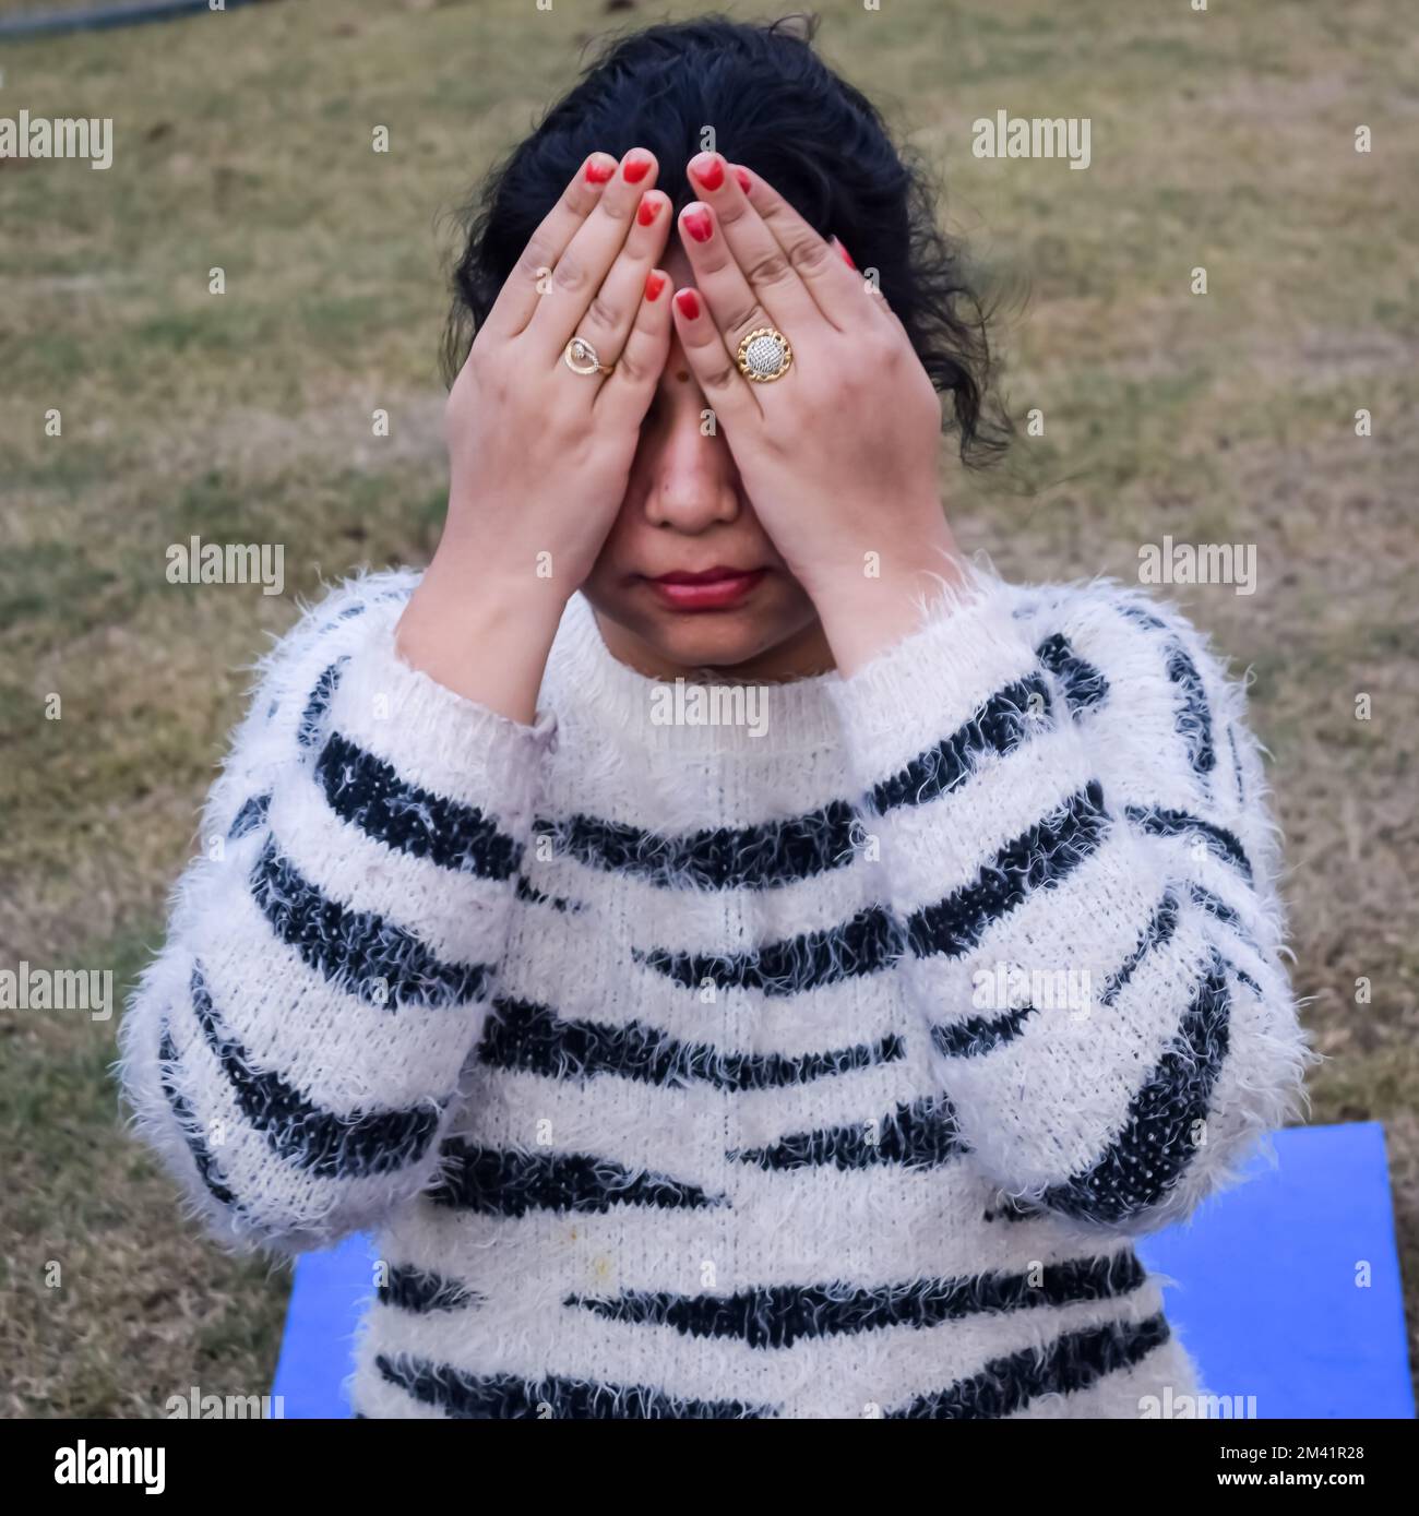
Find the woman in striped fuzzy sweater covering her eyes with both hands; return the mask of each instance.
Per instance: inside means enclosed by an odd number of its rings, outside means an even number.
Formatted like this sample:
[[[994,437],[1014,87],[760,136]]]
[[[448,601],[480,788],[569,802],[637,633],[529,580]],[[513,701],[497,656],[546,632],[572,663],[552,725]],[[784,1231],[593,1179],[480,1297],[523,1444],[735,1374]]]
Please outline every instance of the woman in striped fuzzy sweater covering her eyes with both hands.
[[[458,290],[434,561],[268,658],[124,1023],[194,1210],[376,1233],[364,1416],[1196,1393],[1131,1242],[1301,1099],[1258,749],[1172,609],[963,562],[984,349],[878,115],[631,36]]]

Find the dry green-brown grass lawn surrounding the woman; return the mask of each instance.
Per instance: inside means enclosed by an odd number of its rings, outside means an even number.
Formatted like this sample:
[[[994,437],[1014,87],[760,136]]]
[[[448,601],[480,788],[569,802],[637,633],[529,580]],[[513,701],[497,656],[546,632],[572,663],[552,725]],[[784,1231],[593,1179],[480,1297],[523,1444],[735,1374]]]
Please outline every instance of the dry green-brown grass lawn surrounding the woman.
[[[1254,672],[1330,1055],[1313,1119],[1386,1122],[1419,1323],[1411,27],[1380,0],[820,11],[828,59],[1014,296],[1005,393],[1045,435],[949,476],[960,537],[1022,578],[1129,579],[1164,532],[1257,544],[1254,596],[1181,599]],[[587,36],[664,14],[691,8],[274,3],[6,49],[3,114],[111,115],[115,161],[0,165],[0,964],[129,981],[159,940],[241,667],[297,594],[418,562],[437,532],[441,212]],[[1087,115],[1090,170],[975,159],[970,123],[1001,108]],[[168,585],[194,532],[282,541],[285,597]],[[114,1025],[0,1011],[9,1414],[161,1414],[190,1386],[259,1393],[274,1364],[288,1275],[182,1220],[118,1126]]]

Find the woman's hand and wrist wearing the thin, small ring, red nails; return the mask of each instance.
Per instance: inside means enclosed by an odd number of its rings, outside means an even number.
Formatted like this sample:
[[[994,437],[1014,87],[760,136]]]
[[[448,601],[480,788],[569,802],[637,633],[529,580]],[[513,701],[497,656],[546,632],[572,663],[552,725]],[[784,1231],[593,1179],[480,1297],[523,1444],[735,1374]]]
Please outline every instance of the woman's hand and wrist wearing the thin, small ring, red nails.
[[[399,649],[531,720],[552,638],[616,520],[670,347],[655,158],[593,153],[503,283],[446,409],[449,514]],[[575,373],[567,343],[614,371]]]

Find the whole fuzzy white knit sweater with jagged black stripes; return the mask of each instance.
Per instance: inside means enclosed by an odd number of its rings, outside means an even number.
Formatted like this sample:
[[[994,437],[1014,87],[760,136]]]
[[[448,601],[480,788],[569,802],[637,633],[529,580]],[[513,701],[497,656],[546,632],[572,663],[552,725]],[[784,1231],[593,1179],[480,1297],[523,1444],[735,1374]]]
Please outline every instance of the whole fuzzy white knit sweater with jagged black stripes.
[[[578,596],[528,726],[397,658],[415,582],[265,659],[121,1034],[229,1245],[374,1234],[356,1414],[1226,1389],[1134,1242],[1313,1055],[1245,696],[1181,615],[973,570],[713,725]]]

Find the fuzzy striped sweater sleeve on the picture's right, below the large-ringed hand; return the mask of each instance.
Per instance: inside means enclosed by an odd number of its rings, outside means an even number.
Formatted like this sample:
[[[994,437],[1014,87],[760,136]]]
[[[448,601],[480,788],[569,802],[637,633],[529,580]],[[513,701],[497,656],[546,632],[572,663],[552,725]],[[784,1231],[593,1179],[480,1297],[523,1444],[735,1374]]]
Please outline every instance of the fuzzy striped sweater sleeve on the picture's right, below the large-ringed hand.
[[[1019,1208],[1123,1233],[1236,1181],[1314,1058],[1245,696],[1176,612],[972,570],[834,687],[934,1073]]]

